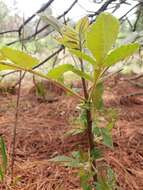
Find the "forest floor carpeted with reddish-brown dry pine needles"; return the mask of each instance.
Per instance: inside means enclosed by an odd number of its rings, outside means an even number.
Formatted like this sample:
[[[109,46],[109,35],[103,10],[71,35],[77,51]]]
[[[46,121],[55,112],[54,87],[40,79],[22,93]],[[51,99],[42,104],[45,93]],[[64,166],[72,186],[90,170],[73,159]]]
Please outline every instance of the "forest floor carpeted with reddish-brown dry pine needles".
[[[105,87],[105,106],[119,113],[113,129],[114,150],[105,150],[105,159],[115,170],[121,190],[143,190],[143,96],[125,97],[143,92],[143,88],[124,81],[124,77],[117,81],[111,78]],[[6,140],[9,154],[16,97],[0,95],[0,134]],[[74,97],[64,95],[53,103],[39,102],[28,90],[22,90],[12,189],[80,190],[76,170],[48,161],[56,155],[69,155],[86,147],[84,135],[65,136],[73,125],[72,118],[77,115],[77,103]]]

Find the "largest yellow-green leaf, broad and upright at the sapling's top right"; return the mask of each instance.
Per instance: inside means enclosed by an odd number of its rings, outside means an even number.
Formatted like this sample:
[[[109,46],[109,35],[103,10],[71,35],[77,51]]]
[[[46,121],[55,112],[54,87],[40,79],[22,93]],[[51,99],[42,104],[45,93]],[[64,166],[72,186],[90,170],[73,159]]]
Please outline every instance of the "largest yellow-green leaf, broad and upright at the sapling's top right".
[[[87,47],[96,58],[98,64],[102,64],[115,44],[119,31],[119,21],[108,13],[100,14],[96,22],[89,27],[87,32]]]

